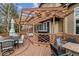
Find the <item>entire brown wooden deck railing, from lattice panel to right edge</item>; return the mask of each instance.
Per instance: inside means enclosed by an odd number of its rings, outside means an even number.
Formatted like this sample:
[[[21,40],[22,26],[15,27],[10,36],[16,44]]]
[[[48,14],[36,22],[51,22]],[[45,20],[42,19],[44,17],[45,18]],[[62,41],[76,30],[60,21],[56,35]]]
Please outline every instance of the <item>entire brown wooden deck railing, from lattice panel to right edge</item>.
[[[36,43],[52,43],[55,44],[57,36],[61,36],[62,42],[65,42],[69,37],[75,37],[76,41],[79,42],[79,35],[73,35],[69,33],[56,33],[56,34],[50,34],[50,33],[33,33],[32,41]]]

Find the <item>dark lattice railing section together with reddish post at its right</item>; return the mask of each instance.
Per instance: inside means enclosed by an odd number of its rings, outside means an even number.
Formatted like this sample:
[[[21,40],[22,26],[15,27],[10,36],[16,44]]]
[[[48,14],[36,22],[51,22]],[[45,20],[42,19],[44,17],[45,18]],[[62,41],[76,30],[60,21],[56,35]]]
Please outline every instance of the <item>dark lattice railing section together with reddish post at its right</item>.
[[[35,43],[54,44],[56,41],[56,35],[50,33],[33,33],[31,40]]]

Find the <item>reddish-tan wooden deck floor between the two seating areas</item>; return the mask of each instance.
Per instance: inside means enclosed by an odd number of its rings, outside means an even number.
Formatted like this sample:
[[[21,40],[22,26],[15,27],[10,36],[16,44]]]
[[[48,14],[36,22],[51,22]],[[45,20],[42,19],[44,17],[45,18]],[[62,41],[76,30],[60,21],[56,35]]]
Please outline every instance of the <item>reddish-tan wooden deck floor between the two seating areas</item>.
[[[24,46],[17,47],[11,56],[50,56],[50,54],[49,45],[36,44],[30,40],[25,40]]]

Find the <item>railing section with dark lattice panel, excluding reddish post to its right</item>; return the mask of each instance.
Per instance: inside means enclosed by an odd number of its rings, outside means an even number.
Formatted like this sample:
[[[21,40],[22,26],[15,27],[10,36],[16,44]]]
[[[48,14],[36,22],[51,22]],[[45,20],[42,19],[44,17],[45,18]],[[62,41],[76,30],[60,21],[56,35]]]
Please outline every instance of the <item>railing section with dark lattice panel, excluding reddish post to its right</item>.
[[[49,33],[33,33],[33,41],[37,43],[50,43],[51,34]]]

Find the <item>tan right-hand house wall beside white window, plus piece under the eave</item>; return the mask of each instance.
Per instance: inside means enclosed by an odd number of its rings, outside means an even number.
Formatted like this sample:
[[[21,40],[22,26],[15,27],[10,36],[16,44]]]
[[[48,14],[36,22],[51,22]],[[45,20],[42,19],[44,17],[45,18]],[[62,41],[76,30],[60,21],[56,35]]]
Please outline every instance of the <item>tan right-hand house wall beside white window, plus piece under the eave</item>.
[[[71,10],[74,10],[74,8],[79,7],[79,4],[75,4],[73,6],[70,7]],[[67,16],[65,18],[65,32],[66,33],[73,33],[75,34],[75,22],[74,22],[74,12],[72,14],[70,14],[69,16]]]

